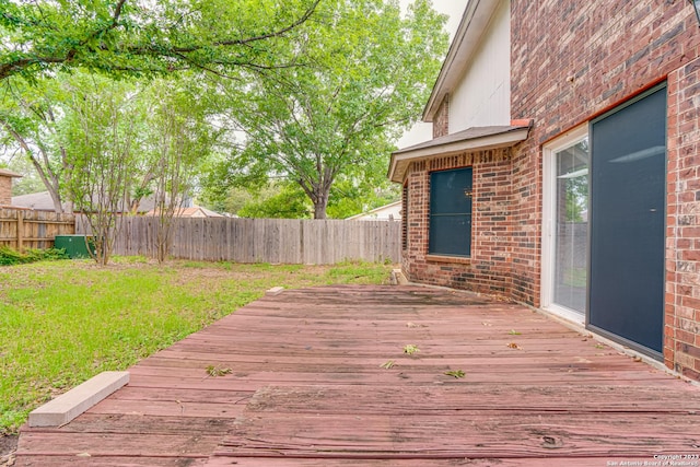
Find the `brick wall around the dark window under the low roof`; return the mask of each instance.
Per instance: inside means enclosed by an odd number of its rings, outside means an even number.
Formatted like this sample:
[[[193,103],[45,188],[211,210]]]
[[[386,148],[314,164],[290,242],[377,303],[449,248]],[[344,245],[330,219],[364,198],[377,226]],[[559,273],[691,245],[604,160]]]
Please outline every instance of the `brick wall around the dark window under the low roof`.
[[[511,149],[415,162],[408,170],[408,244],[402,269],[416,282],[511,296],[513,206]],[[430,173],[471,166],[474,211],[470,258],[428,255]]]

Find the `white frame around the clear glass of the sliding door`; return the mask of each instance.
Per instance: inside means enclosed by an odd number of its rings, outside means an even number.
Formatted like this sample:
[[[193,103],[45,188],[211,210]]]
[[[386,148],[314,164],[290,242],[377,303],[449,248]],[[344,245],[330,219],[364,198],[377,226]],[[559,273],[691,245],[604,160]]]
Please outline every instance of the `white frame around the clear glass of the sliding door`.
[[[557,214],[557,161],[555,155],[567,148],[582,141],[588,136],[588,124],[583,124],[542,147],[542,264],[541,264],[541,308],[564,319],[583,324],[585,313],[552,303],[555,270],[555,215]]]

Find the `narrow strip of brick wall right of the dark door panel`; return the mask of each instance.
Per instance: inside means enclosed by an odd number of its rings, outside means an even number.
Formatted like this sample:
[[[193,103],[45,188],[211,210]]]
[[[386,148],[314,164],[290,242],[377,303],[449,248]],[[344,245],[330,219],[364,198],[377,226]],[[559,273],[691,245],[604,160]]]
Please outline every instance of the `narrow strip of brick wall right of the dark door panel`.
[[[668,107],[664,358],[700,380],[700,58],[668,74]]]

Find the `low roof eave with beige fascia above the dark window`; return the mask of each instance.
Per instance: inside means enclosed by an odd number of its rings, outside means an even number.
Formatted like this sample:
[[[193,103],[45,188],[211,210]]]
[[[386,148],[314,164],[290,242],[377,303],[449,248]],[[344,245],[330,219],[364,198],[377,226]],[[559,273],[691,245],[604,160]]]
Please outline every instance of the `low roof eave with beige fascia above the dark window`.
[[[411,162],[436,155],[458,154],[465,151],[509,148],[527,139],[532,122],[514,120],[511,126],[476,127],[435,138],[392,153],[389,178],[401,183]]]

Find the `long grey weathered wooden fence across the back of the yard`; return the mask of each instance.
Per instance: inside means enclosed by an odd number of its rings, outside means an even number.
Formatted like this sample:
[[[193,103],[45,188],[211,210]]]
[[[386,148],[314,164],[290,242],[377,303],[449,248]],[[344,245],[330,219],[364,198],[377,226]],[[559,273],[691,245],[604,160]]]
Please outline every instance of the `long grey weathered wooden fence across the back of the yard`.
[[[85,233],[78,222],[79,233]],[[152,256],[158,218],[121,219],[116,255]],[[329,265],[400,260],[400,222],[298,219],[176,219],[171,256],[180,259]]]

